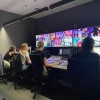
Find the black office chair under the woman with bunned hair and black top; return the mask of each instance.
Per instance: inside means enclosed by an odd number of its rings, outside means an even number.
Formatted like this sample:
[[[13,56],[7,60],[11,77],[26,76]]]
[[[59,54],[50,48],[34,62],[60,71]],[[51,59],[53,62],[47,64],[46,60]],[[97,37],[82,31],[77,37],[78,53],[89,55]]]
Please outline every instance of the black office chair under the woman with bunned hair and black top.
[[[32,70],[33,70],[33,81],[35,88],[32,89],[34,92],[33,99],[36,98],[36,95],[41,92],[46,84],[47,84],[47,77],[43,75],[43,62],[41,55],[33,54],[30,56],[32,61]]]

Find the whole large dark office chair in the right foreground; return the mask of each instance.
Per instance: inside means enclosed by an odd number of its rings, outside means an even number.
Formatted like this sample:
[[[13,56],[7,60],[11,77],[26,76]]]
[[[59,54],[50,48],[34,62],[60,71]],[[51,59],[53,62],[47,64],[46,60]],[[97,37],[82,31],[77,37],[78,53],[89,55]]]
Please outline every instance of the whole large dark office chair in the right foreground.
[[[100,96],[99,66],[98,59],[69,59],[72,87],[82,100]]]

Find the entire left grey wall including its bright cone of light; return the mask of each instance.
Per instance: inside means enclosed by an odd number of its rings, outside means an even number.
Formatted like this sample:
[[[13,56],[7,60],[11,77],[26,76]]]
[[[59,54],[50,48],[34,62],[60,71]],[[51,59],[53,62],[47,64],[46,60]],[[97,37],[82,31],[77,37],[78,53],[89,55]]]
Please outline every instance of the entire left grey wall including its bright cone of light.
[[[3,26],[3,23],[18,17],[19,15],[17,14],[0,11],[0,52],[3,55],[8,51],[10,46],[16,45],[19,47],[23,42],[27,42],[30,46],[34,47],[33,18],[28,18],[8,26]]]

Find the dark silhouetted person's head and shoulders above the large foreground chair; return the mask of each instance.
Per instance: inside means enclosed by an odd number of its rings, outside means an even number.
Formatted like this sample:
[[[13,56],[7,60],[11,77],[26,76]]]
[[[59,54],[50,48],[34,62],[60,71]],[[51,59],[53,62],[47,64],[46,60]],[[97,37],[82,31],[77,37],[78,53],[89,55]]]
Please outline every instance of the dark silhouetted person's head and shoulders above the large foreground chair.
[[[85,38],[82,43],[81,51],[73,55],[72,58],[77,59],[100,59],[100,55],[93,51],[94,40]]]

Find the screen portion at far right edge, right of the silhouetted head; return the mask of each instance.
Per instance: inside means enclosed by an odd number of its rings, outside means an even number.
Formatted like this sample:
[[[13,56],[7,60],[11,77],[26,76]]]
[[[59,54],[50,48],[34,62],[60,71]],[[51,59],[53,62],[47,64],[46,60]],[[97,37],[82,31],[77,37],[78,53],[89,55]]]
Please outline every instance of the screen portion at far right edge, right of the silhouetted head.
[[[93,30],[91,37],[94,39],[94,46],[100,46],[100,26],[93,27]]]

